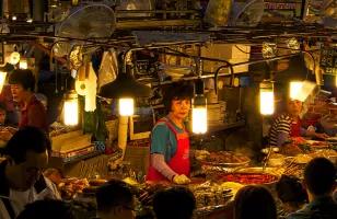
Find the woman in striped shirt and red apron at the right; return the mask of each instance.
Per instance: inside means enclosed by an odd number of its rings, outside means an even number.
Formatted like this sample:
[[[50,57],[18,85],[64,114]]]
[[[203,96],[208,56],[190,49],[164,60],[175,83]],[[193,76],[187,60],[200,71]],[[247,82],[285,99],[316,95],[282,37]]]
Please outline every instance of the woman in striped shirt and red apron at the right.
[[[294,137],[314,137],[325,139],[326,134],[315,132],[314,129],[302,127],[300,114],[302,112],[302,102],[299,100],[288,100],[287,112],[277,117],[269,131],[269,143],[271,146],[283,146],[290,138]]]

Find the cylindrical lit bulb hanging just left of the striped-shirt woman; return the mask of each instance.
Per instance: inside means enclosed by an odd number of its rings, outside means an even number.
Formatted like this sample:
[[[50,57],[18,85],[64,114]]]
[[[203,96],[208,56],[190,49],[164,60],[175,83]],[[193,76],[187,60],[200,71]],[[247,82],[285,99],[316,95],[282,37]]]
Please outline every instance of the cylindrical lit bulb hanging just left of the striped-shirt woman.
[[[274,110],[274,84],[263,81],[259,83],[259,112],[262,115],[272,115]]]

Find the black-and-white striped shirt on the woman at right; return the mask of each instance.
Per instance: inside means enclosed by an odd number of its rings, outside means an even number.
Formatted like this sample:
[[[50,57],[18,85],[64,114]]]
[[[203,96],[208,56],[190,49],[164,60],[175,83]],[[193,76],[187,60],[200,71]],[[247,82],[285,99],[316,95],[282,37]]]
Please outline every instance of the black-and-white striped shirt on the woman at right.
[[[288,114],[277,117],[269,131],[269,143],[278,146],[279,134],[290,135],[292,118]]]

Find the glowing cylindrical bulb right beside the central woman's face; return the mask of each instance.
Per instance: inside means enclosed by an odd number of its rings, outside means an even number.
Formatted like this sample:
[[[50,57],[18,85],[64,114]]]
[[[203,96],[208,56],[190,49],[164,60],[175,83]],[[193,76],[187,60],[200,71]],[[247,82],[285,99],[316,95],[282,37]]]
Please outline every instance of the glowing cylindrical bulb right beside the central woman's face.
[[[195,134],[207,131],[207,106],[197,106],[191,110],[191,130]]]

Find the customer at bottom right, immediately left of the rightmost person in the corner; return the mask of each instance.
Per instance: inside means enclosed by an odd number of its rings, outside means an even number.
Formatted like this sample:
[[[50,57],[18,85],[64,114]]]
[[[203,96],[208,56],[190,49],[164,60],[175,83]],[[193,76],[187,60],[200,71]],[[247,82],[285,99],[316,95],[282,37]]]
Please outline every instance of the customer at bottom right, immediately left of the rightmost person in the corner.
[[[276,184],[276,191],[286,215],[301,209],[307,201],[307,195],[300,178],[294,176],[282,175]]]

